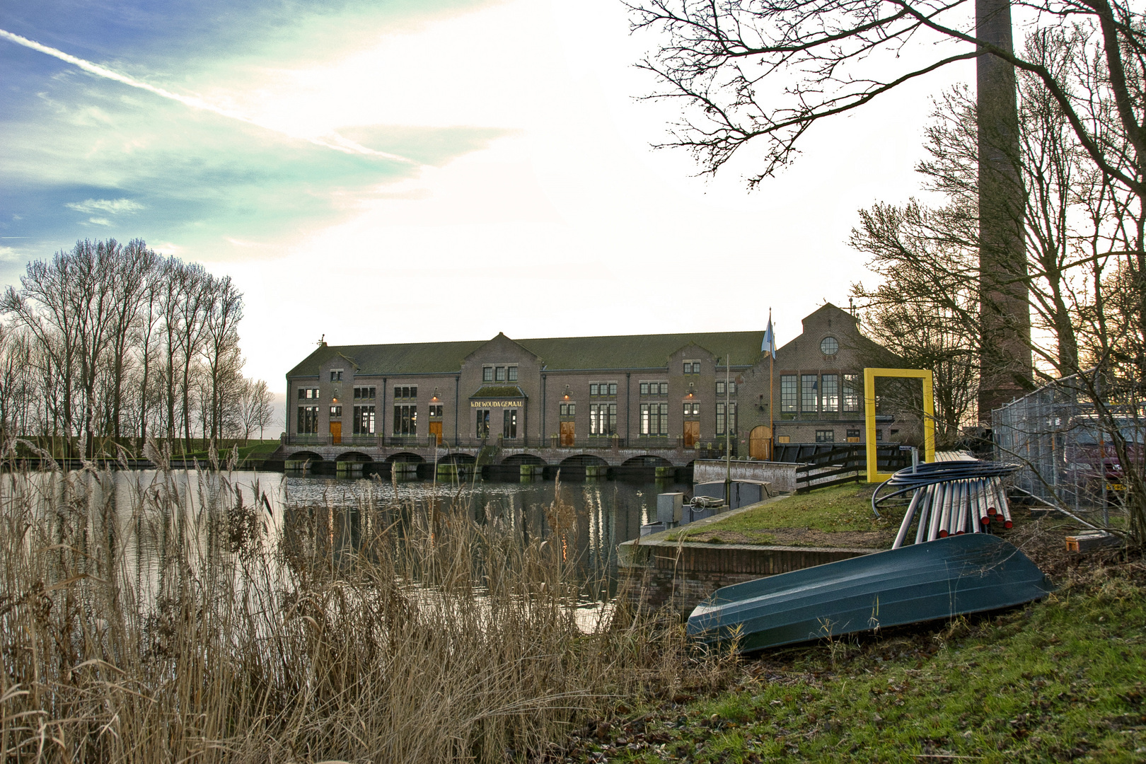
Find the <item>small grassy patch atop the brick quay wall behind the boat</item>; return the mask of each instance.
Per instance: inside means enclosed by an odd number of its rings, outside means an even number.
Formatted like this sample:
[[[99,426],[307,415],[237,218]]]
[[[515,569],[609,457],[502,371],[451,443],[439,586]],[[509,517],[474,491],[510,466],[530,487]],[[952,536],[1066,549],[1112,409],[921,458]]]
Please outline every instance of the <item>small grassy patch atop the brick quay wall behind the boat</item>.
[[[890,546],[903,510],[881,512],[882,518],[872,514],[874,488],[868,483],[849,483],[790,496],[704,527],[686,527],[673,538],[804,546],[850,546],[866,542]],[[839,536],[842,543],[833,544],[827,535]]]

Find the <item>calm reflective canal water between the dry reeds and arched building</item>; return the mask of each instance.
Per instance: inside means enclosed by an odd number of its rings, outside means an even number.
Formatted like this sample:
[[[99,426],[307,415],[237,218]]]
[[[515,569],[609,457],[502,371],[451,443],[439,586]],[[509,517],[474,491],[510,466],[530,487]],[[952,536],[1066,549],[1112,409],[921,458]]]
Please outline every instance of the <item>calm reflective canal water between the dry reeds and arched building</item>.
[[[93,475],[72,473],[64,480],[60,473],[8,473],[0,480],[0,501],[16,494],[33,495],[42,511],[56,512],[72,506],[81,513],[116,515],[103,519],[102,527],[115,529],[112,538],[121,539],[120,557],[131,561],[134,576],[148,578],[157,569],[156,559],[164,548],[163,534],[170,523],[151,522],[136,517],[135,509],[143,495],[164,493],[173,501],[165,505],[181,507],[179,527],[205,527],[205,506],[233,506],[236,494],[246,506],[258,506],[267,513],[272,534],[278,537],[292,523],[306,525],[316,511],[339,528],[332,538],[336,553],[358,543],[363,511],[395,506],[433,507],[439,512],[469,513],[479,522],[500,520],[519,529],[524,538],[547,538],[550,528],[547,510],[560,491],[562,502],[572,507],[575,522],[566,531],[568,558],[576,562],[586,580],[607,581],[609,593],[615,591],[617,545],[637,538],[641,526],[656,519],[658,494],[682,491],[691,486],[674,479],[651,475],[627,475],[620,479],[582,478],[580,480],[496,480],[471,479],[439,482],[437,480],[391,480],[380,475],[362,479],[328,475],[293,475],[276,472],[197,473],[173,471],[168,475],[155,471],[124,471]],[[77,490],[79,488],[79,490]],[[79,495],[83,494],[83,495]],[[109,509],[110,507],[110,509]],[[94,526],[93,526],[94,528]],[[120,542],[111,541],[119,545]],[[134,577],[133,576],[133,577]],[[602,592],[604,593],[604,592]]]

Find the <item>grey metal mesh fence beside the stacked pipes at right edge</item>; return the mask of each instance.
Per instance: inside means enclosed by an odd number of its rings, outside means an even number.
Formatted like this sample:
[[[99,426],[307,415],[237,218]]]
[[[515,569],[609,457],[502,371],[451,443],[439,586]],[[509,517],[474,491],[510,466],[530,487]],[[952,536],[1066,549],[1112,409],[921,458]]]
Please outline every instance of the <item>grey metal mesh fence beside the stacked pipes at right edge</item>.
[[[991,427],[996,458],[1023,464],[1018,488],[1073,512],[1100,512],[1107,522],[1125,495],[1113,431],[1140,462],[1146,419],[1137,405],[1100,411],[1091,389],[1092,380],[1077,375],[1055,380],[991,411]]]

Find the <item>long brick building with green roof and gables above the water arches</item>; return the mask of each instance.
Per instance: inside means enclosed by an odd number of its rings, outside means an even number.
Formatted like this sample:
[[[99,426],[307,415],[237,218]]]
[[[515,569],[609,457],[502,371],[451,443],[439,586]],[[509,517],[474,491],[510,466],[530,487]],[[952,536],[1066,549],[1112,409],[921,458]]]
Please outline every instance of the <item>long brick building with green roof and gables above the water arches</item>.
[[[772,423],[776,443],[862,442],[874,344],[833,305],[802,324],[775,362],[763,330],[323,342],[286,375],[288,442],[664,449],[730,431],[737,452],[768,458]]]

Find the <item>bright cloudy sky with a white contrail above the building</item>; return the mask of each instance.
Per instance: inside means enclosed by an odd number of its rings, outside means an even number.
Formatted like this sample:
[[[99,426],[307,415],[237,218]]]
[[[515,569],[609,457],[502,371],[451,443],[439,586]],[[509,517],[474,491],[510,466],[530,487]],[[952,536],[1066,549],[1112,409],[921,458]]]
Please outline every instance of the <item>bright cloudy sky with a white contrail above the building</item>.
[[[928,97],[813,128],[749,191],[653,150],[619,0],[0,2],[0,284],[77,239],[230,275],[245,373],[335,345],[762,330],[871,281],[857,210],[919,196]],[[933,55],[933,54],[931,54]],[[735,359],[733,359],[735,362]]]

